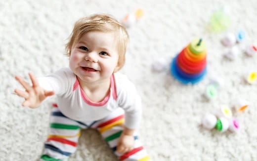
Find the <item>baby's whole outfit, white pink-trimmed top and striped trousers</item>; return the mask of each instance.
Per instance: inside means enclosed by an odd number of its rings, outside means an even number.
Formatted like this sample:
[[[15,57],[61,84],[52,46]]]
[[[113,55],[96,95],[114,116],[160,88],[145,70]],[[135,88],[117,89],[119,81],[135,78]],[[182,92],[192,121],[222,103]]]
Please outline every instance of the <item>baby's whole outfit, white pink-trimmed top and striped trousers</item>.
[[[48,139],[40,161],[67,161],[76,151],[80,130],[97,129],[120,161],[149,161],[136,132],[134,148],[125,154],[116,152],[124,126],[136,129],[141,118],[141,100],[125,75],[111,76],[109,94],[101,102],[90,101],[69,68],[39,78],[40,85],[56,94]]]

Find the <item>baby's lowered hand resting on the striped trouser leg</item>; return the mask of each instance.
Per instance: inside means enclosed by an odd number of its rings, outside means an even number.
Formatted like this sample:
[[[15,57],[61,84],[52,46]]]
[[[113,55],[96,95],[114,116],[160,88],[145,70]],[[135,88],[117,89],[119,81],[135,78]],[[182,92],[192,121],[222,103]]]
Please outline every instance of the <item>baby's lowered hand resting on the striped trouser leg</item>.
[[[123,134],[119,138],[117,145],[117,152],[120,154],[127,153],[131,151],[134,147],[134,136]]]

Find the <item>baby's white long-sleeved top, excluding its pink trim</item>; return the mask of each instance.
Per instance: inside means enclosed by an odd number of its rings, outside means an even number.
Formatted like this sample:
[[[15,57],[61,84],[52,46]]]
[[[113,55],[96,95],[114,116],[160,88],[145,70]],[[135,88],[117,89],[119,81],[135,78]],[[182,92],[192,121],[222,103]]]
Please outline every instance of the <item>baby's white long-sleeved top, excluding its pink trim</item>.
[[[110,115],[121,107],[125,110],[125,125],[130,129],[138,127],[141,117],[141,100],[134,85],[125,75],[114,74],[117,100],[111,90],[108,102],[102,106],[93,106],[83,99],[80,86],[74,90],[76,76],[69,68],[62,68],[52,75],[39,78],[40,86],[55,91],[57,105],[67,117],[77,121],[97,121]]]

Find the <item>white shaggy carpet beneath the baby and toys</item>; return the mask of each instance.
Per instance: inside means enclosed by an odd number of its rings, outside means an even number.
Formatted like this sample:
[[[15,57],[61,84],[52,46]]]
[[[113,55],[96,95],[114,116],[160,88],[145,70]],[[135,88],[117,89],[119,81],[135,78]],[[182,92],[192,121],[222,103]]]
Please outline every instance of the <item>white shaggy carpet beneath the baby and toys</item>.
[[[109,13],[121,20],[141,7],[143,19],[129,28],[127,64],[121,71],[142,96],[140,138],[153,161],[257,161],[257,85],[243,80],[257,70],[257,55],[241,53],[235,61],[223,59],[220,43],[226,32],[213,33],[207,26],[213,12],[228,6],[232,23],[227,31],[247,32],[238,46],[257,44],[256,0],[0,0],[0,161],[37,161],[47,136],[50,105],[21,107],[13,92],[21,86],[15,75],[52,73],[66,67],[64,44],[75,21],[92,13]],[[174,80],[168,69],[153,72],[151,64],[168,62],[194,38],[207,42],[208,75],[195,85]],[[225,80],[214,101],[202,96],[209,77]],[[201,119],[216,107],[233,106],[233,100],[250,102],[237,119],[238,133],[205,130]],[[116,161],[107,144],[93,130],[86,130],[70,161]]]

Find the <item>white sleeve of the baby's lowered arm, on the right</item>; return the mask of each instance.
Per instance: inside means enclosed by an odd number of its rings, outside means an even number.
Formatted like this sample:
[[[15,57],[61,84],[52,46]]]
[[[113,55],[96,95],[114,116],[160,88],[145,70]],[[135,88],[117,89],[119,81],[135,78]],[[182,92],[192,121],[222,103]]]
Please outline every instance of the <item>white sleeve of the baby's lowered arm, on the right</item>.
[[[136,129],[139,126],[142,114],[141,98],[134,84],[126,76],[116,81],[118,104],[125,110],[125,126]]]

